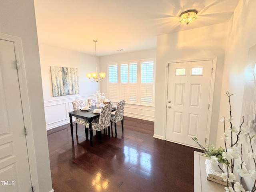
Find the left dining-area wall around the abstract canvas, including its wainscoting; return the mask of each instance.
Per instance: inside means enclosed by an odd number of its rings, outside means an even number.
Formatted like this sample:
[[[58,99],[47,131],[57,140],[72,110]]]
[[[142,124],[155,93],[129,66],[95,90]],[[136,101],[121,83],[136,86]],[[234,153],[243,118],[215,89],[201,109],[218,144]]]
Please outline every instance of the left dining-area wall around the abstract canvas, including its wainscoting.
[[[39,44],[39,51],[46,129],[49,130],[68,124],[68,112],[73,111],[72,101],[82,99],[87,104],[87,98],[100,90],[100,82],[90,82],[86,77],[86,73],[96,71],[95,56],[42,43]],[[78,68],[79,94],[53,97],[50,66]]]

